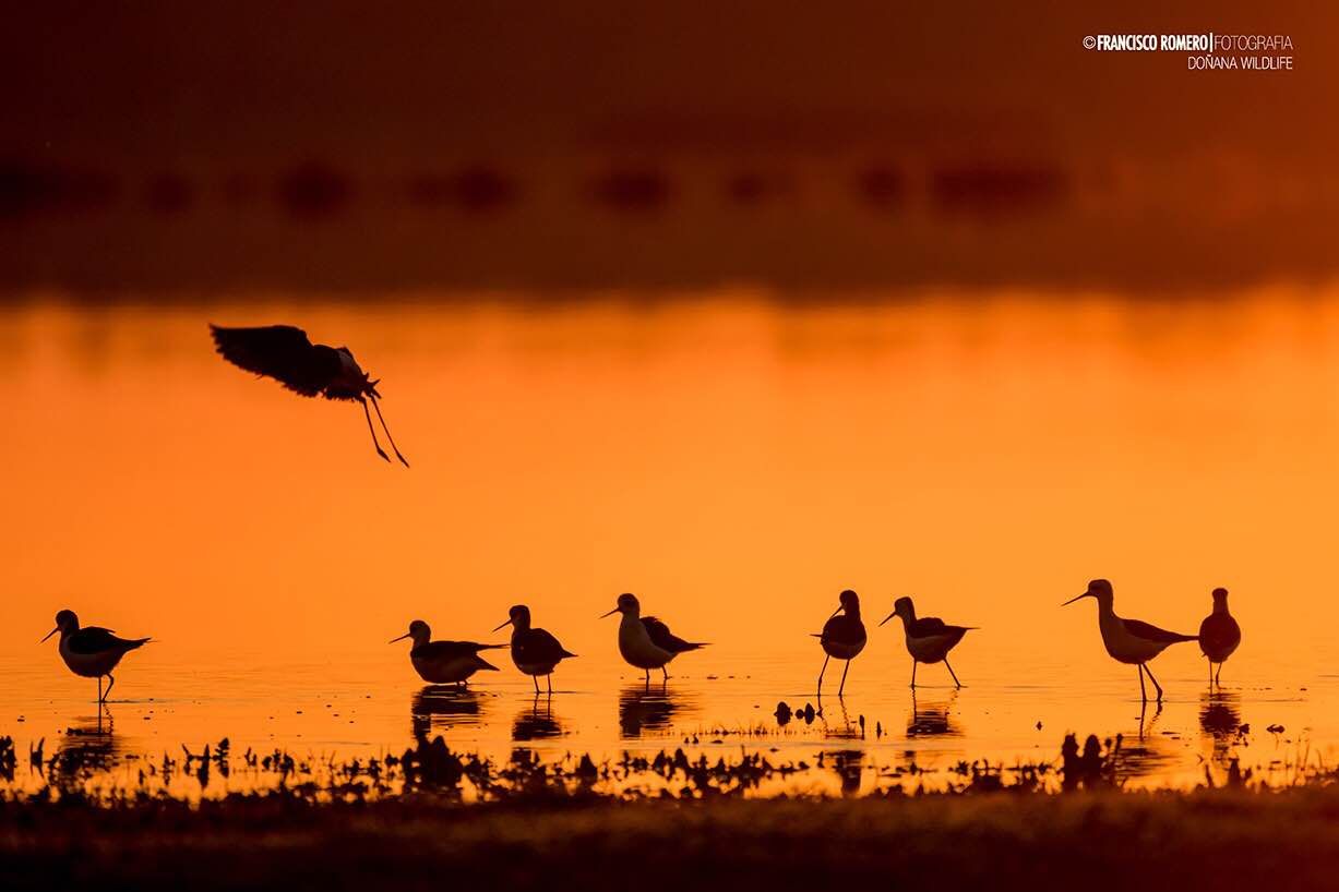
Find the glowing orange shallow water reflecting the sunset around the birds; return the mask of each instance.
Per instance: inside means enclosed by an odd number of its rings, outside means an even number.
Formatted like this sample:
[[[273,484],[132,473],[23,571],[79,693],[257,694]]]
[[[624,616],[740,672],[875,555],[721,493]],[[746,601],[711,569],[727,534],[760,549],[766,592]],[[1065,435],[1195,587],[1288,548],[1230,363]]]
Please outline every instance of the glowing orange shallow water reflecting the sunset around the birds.
[[[1123,734],[1134,784],[1232,756],[1334,761],[1339,293],[430,297],[0,312],[0,734],[48,756],[229,737],[348,757],[441,733],[609,758],[687,740],[861,752],[865,789],[911,762],[1052,760],[1067,730]],[[225,365],[209,321],[347,342],[412,469],[372,455],[356,408]],[[1172,647],[1141,736],[1094,606],[1059,607],[1099,575],[1118,612],[1186,633],[1231,588],[1245,639],[1221,693],[1193,643]],[[834,665],[822,715],[781,728],[778,701],[819,706],[809,633],[844,587],[870,643],[841,701]],[[597,619],[620,591],[711,642],[665,687]],[[896,621],[874,627],[908,594],[980,626],[952,657],[961,691],[923,666],[912,698]],[[469,693],[424,690],[408,643],[386,643],[414,618],[502,642],[489,630],[518,602],[580,654],[552,699],[505,651]],[[36,645],[60,607],[155,638],[118,670],[103,734],[84,733],[94,683]]]

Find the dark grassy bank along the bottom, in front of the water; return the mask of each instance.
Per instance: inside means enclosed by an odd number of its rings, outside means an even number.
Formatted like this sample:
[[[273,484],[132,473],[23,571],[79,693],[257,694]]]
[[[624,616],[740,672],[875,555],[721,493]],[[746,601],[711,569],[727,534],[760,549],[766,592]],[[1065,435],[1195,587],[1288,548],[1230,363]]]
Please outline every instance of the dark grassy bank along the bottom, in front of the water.
[[[1339,790],[0,805],[7,889],[1323,889]]]

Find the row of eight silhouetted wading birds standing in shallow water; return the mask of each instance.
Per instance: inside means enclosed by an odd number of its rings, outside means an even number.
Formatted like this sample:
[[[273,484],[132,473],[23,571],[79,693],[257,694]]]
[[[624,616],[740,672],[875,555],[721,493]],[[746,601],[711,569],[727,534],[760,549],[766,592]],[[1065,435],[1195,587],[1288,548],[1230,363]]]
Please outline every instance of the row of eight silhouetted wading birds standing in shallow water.
[[[1125,619],[1115,615],[1114,594],[1111,583],[1106,579],[1094,579],[1087,590],[1065,602],[1071,604],[1079,598],[1093,598],[1098,603],[1098,629],[1102,633],[1102,643],[1106,653],[1122,663],[1137,666],[1139,673],[1139,694],[1148,702],[1148,687],[1144,677],[1148,675],[1157,691],[1157,701],[1162,702],[1162,686],[1149,670],[1149,661],[1161,654],[1170,645],[1184,641],[1200,642],[1200,650],[1209,661],[1209,685],[1216,685],[1223,673],[1223,663],[1232,655],[1241,643],[1241,629],[1228,611],[1228,590],[1213,590],[1213,612],[1200,623],[1198,635],[1182,635],[1166,631],[1138,619]],[[707,645],[690,642],[679,638],[670,626],[655,617],[641,615],[641,603],[636,595],[621,594],[613,610],[604,614],[612,617],[621,614],[619,622],[619,653],[629,666],[645,673],[647,685],[651,683],[651,671],[659,669],[664,675],[664,682],[670,681],[670,662],[679,654],[690,650],[699,650]],[[907,641],[907,653],[912,657],[912,683],[916,687],[916,667],[920,663],[944,663],[948,674],[953,678],[953,685],[961,687],[957,673],[948,662],[948,654],[963,637],[971,631],[972,626],[949,626],[936,617],[917,617],[916,606],[911,598],[898,598],[893,603],[890,612],[881,623],[886,623],[894,617],[902,621],[902,633]],[[432,630],[422,619],[410,623],[410,630],[399,638],[392,638],[390,643],[408,638],[414,642],[410,649],[410,663],[419,677],[434,685],[465,685],[465,682],[479,670],[497,671],[498,667],[483,659],[481,651],[509,647],[511,662],[534,682],[534,693],[540,693],[540,677],[548,683],[549,694],[553,693],[553,671],[558,663],[576,654],[569,653],[553,633],[530,625],[530,608],[517,604],[509,611],[507,621],[494,629],[501,631],[511,626],[511,642],[509,645],[481,645],[474,641],[432,641]],[[146,643],[149,638],[125,639],[118,638],[107,629],[80,627],[79,618],[74,611],[62,610],[56,614],[56,627],[47,638],[60,633],[60,657],[66,661],[76,675],[98,678],[98,702],[106,702],[115,679],[111,670],[116,667],[121,658],[129,651]],[[43,638],[43,641],[47,641]],[[868,635],[865,623],[860,617],[860,596],[849,588],[838,595],[838,607],[823,630],[815,633],[814,638],[823,649],[823,667],[818,671],[818,695],[823,691],[823,674],[833,657],[842,659],[846,665],[841,673],[841,683],[837,686],[837,697],[841,697],[846,687],[846,673],[850,670],[850,661],[865,650]],[[1217,665],[1217,670],[1214,670]],[[106,691],[102,687],[102,678],[107,678]]]

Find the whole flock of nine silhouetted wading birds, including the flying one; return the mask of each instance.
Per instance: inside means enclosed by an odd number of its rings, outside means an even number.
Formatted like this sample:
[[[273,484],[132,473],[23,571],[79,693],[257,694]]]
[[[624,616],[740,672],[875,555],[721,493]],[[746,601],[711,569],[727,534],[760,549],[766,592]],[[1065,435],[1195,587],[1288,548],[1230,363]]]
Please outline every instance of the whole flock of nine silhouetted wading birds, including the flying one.
[[[214,349],[241,369],[261,377],[274,378],[300,396],[323,396],[327,400],[362,404],[367,429],[372,435],[372,447],[382,459],[390,461],[390,456],[378,441],[376,428],[372,425],[372,413],[368,411],[368,403],[371,403],[391,451],[395,452],[400,464],[408,467],[408,460],[395,445],[378,404],[380,393],[378,393],[376,385],[380,381],[372,380],[367,372],[363,372],[347,346],[332,348],[324,344],[312,344],[305,332],[292,325],[260,328],[210,325],[209,329]],[[1083,594],[1065,603],[1070,604],[1081,598],[1093,598],[1098,603],[1098,629],[1102,631],[1106,653],[1122,663],[1137,666],[1139,694],[1144,702],[1149,699],[1148,687],[1144,683],[1145,675],[1153,682],[1158,702],[1162,702],[1162,686],[1149,671],[1148,663],[1170,645],[1198,641],[1201,651],[1209,661],[1209,683],[1212,686],[1218,681],[1224,661],[1241,643],[1241,630],[1232,614],[1228,612],[1228,591],[1225,588],[1213,590],[1213,612],[1200,625],[1198,635],[1182,635],[1138,619],[1117,617],[1111,583],[1106,579],[1094,579]],[[865,623],[860,617],[860,598],[854,591],[846,590],[841,592],[838,602],[837,611],[823,625],[822,633],[814,635],[825,654],[823,667],[818,673],[819,695],[822,695],[828,663],[834,657],[846,661],[841,683],[837,687],[837,695],[842,695],[846,687],[846,673],[850,671],[850,661],[860,655],[866,643]],[[605,617],[615,612],[623,614],[619,623],[619,653],[631,666],[645,673],[648,685],[652,670],[659,669],[664,674],[664,681],[668,682],[667,667],[675,657],[706,646],[679,638],[655,617],[643,617],[641,604],[635,595],[619,595],[617,604]],[[912,657],[912,687],[916,687],[917,665],[939,662],[943,662],[948,669],[953,685],[961,687],[957,674],[948,662],[948,653],[963,641],[963,635],[972,627],[949,626],[935,617],[917,617],[911,598],[898,598],[893,604],[893,612],[880,626],[893,617],[900,617],[902,621],[907,651]],[[510,647],[511,662],[522,673],[532,677],[536,694],[540,693],[540,675],[545,677],[548,690],[552,694],[553,670],[564,659],[576,654],[564,649],[549,631],[532,626],[530,610],[524,604],[511,607],[509,619],[493,631],[499,631],[506,626],[511,626],[510,645],[481,645],[471,641],[432,641],[428,625],[415,619],[410,623],[408,631],[391,643],[406,638],[411,639],[414,646],[410,650],[410,662],[414,670],[423,681],[435,685],[463,685],[479,670],[497,670],[497,666],[479,657],[479,653]],[[71,610],[62,610],[56,614],[56,627],[42,641],[47,641],[58,633],[60,634],[60,657],[66,666],[76,675],[98,679],[99,703],[104,703],[107,695],[111,694],[111,687],[116,681],[111,673],[121,663],[122,657],[150,641],[149,638],[118,638],[110,630],[96,626],[80,627],[79,618]],[[1217,671],[1214,671],[1214,665],[1217,665]],[[102,686],[103,678],[107,679],[106,690]]]

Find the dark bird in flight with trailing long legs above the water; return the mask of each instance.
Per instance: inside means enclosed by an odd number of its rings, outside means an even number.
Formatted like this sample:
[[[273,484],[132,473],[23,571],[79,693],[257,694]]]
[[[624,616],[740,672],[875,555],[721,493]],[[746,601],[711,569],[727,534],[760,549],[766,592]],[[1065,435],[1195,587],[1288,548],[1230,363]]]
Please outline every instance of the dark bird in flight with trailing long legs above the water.
[[[307,340],[307,332],[292,325],[265,325],[260,328],[222,328],[210,325],[214,346],[220,356],[233,365],[274,378],[289,391],[301,396],[324,396],[327,400],[356,400],[363,404],[367,429],[372,433],[372,447],[376,455],[390,461],[390,456],[376,440],[372,415],[367,411],[371,399],[376,417],[386,431],[386,439],[395,451],[395,457],[406,468],[410,463],[395,445],[391,429],[382,417],[382,407],[376,403],[382,395],[376,392],[380,378],[359,368],[347,346],[325,346]]]

